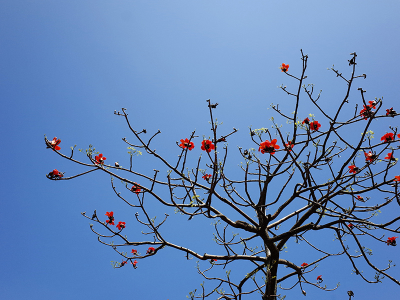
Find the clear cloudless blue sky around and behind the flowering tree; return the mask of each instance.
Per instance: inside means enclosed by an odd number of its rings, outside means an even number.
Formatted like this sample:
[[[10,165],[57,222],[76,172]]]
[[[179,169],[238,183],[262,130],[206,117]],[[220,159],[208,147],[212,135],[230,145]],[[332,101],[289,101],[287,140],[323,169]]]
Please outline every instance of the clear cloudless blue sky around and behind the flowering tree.
[[[269,126],[271,102],[287,101],[277,86],[293,82],[278,66],[289,63],[298,73],[300,48],[309,55],[308,82],[323,90],[325,101],[334,105],[344,88],[326,68],[334,64],[348,72],[348,54],[356,51],[357,70],[367,78],[354,87],[367,89],[371,98],[383,95],[387,107],[398,111],[398,11],[399,1],[369,0],[2,0],[1,297],[186,298],[202,279],[194,259],[181,253],[161,251],[140,260],[137,269],[111,267],[109,261],[120,257],[97,242],[80,211],[113,210],[126,222],[131,218],[126,229],[132,236],[138,234],[132,228],[136,211],[113,196],[105,174],[48,180],[53,168],[66,175],[82,168],[45,149],[43,135],[60,137],[65,152],[91,143],[110,161],[127,161],[120,138],[129,133],[113,115],[125,107],[136,128],[162,131],[158,148],[174,157],[174,142],[192,129],[209,134],[205,100],[211,98],[219,102],[216,116],[226,131],[239,129],[230,144],[234,152],[248,142],[248,125]],[[144,167],[146,158],[140,159]],[[191,222],[176,226],[171,237],[187,237],[198,248],[209,241],[215,248],[212,228],[193,237],[193,227],[202,223]],[[374,255],[399,263],[399,247],[390,250]],[[299,252],[298,261],[305,255]],[[341,285],[334,292],[306,286],[307,297],[345,299],[352,289],[355,299],[390,299],[398,290],[389,280],[367,285],[350,272],[347,261],[321,264],[312,276]],[[398,269],[392,274],[400,277]],[[286,294],[301,297],[298,290]]]

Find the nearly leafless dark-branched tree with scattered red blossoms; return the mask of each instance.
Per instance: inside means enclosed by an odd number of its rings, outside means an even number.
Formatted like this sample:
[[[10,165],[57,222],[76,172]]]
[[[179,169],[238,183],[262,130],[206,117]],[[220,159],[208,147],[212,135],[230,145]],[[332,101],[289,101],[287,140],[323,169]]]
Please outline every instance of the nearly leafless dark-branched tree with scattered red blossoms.
[[[232,138],[237,129],[233,128],[222,135],[217,133],[219,123],[214,119],[213,111],[218,103],[211,103],[210,100],[207,103],[211,136],[202,135],[198,139],[199,136],[192,131],[188,137],[176,142],[179,153],[174,162],[167,161],[153,149],[155,137],[160,131],[145,139],[146,130],[135,130],[126,109],[122,108],[114,111],[114,114],[125,118],[136,139],[132,142],[122,138],[129,149],[129,167],[120,166],[118,162],[106,164],[106,157],[96,152],[92,145],[85,151],[88,162],[76,160],[74,147],[71,147],[70,155],[63,154],[59,151],[60,139],[54,137],[48,140],[45,137],[48,148],[65,159],[89,168],[70,177],[54,169],[47,177],[57,181],[69,180],[96,170],[110,174],[115,195],[128,206],[141,210],[143,216],[136,213],[135,221],[147,228],[147,231],[142,231],[142,239],[132,240],[122,231],[133,220],[118,221],[115,228],[113,211],[105,212],[106,217],[103,212],[97,214],[95,210],[92,216],[82,212],[84,217],[96,224],[91,224],[90,228],[97,234],[98,240],[123,257],[122,262],[114,262],[114,267],[122,267],[130,262],[133,268],[137,268],[137,260],[156,255],[164,247],[182,251],[187,259],[195,257],[208,260],[208,267],[198,264],[197,270],[213,285],[209,288],[210,283],[207,286],[201,284],[200,291],[189,293],[191,299],[213,294],[213,297],[217,294],[218,299],[244,299],[255,292],[259,292],[263,300],[283,299],[277,287],[288,278],[295,278],[294,284],[281,288],[298,286],[304,295],[304,284],[333,290],[337,285],[322,285],[322,275],[315,276],[313,270],[318,263],[338,255],[346,257],[353,272],[366,282],[376,283],[387,277],[400,285],[389,273],[393,266],[391,261],[385,267],[375,265],[368,258],[372,250],[366,246],[371,240],[378,242],[381,247],[395,246],[398,237],[395,235],[400,233],[400,227],[396,225],[400,217],[387,218],[380,213],[381,209],[398,209],[400,205],[400,176],[394,176],[391,170],[397,163],[394,152],[399,148],[396,137],[400,138],[400,133],[397,134],[397,127],[389,126],[389,132],[373,142],[374,132],[371,130],[372,122],[398,114],[393,107],[378,114],[383,99],[368,101],[365,99],[366,91],[362,88],[357,89],[360,97],[354,101],[355,107],[349,106],[352,105],[349,93],[353,80],[366,77],[365,74],[355,74],[357,55],[350,55],[349,77],[342,75],[334,66],[331,68],[336,77],[340,77],[347,85],[345,95],[335,109],[331,103],[320,104],[318,99],[321,93],[315,95],[314,85],[303,83],[308,56],[302,50],[302,71],[299,76],[289,73],[288,64],[281,64],[281,72],[297,82],[294,91],[290,91],[286,85],[280,86],[283,92],[293,97],[294,111],[290,115],[287,107],[281,110],[277,104],[271,104],[272,111],[280,119],[286,120],[286,125],[278,125],[271,117],[272,129],[249,128],[254,148],[238,147],[244,160],[239,165],[242,172],[240,178],[236,173],[231,175],[225,172],[225,165],[230,163],[226,141]],[[300,100],[300,94],[309,99],[315,111],[321,115],[320,118],[316,119],[311,113],[307,116],[301,114],[303,99]],[[362,109],[359,108],[361,105]],[[283,129],[291,131],[284,132]],[[361,135],[359,132],[362,132]],[[194,147],[201,149],[198,158],[194,158]],[[83,149],[79,150],[83,152]],[[135,171],[133,157],[142,153],[156,158],[167,170],[166,177],[160,175],[157,169],[151,173]],[[141,180],[138,183],[127,176]],[[122,185],[115,184],[115,179],[120,180]],[[368,196],[371,192],[379,195],[379,199],[375,199],[378,204],[371,203],[373,200]],[[154,205],[155,199],[159,205],[173,207],[176,212],[186,215],[188,221],[197,217],[213,220],[214,241],[220,246],[221,252],[200,254],[196,249],[165,238],[162,225],[167,221],[168,214],[165,213],[161,221],[156,221],[147,213],[148,198],[152,198],[151,205]],[[234,233],[229,235],[227,231],[231,228]],[[318,239],[325,236],[334,238],[337,250],[318,243]],[[119,243],[110,242],[110,238],[114,237],[119,238]],[[307,245],[320,253],[319,258],[301,264],[281,258],[280,254],[289,240]],[[148,248],[145,253],[139,253],[132,247]],[[353,254],[354,250],[356,254]],[[239,262],[244,262],[246,267],[246,274],[242,277],[238,277],[241,273],[232,276],[230,271],[226,271],[225,276],[214,276],[215,271],[225,272],[225,267]],[[360,271],[360,262],[375,271],[374,278]],[[348,295],[351,298],[352,291],[348,291]]]

